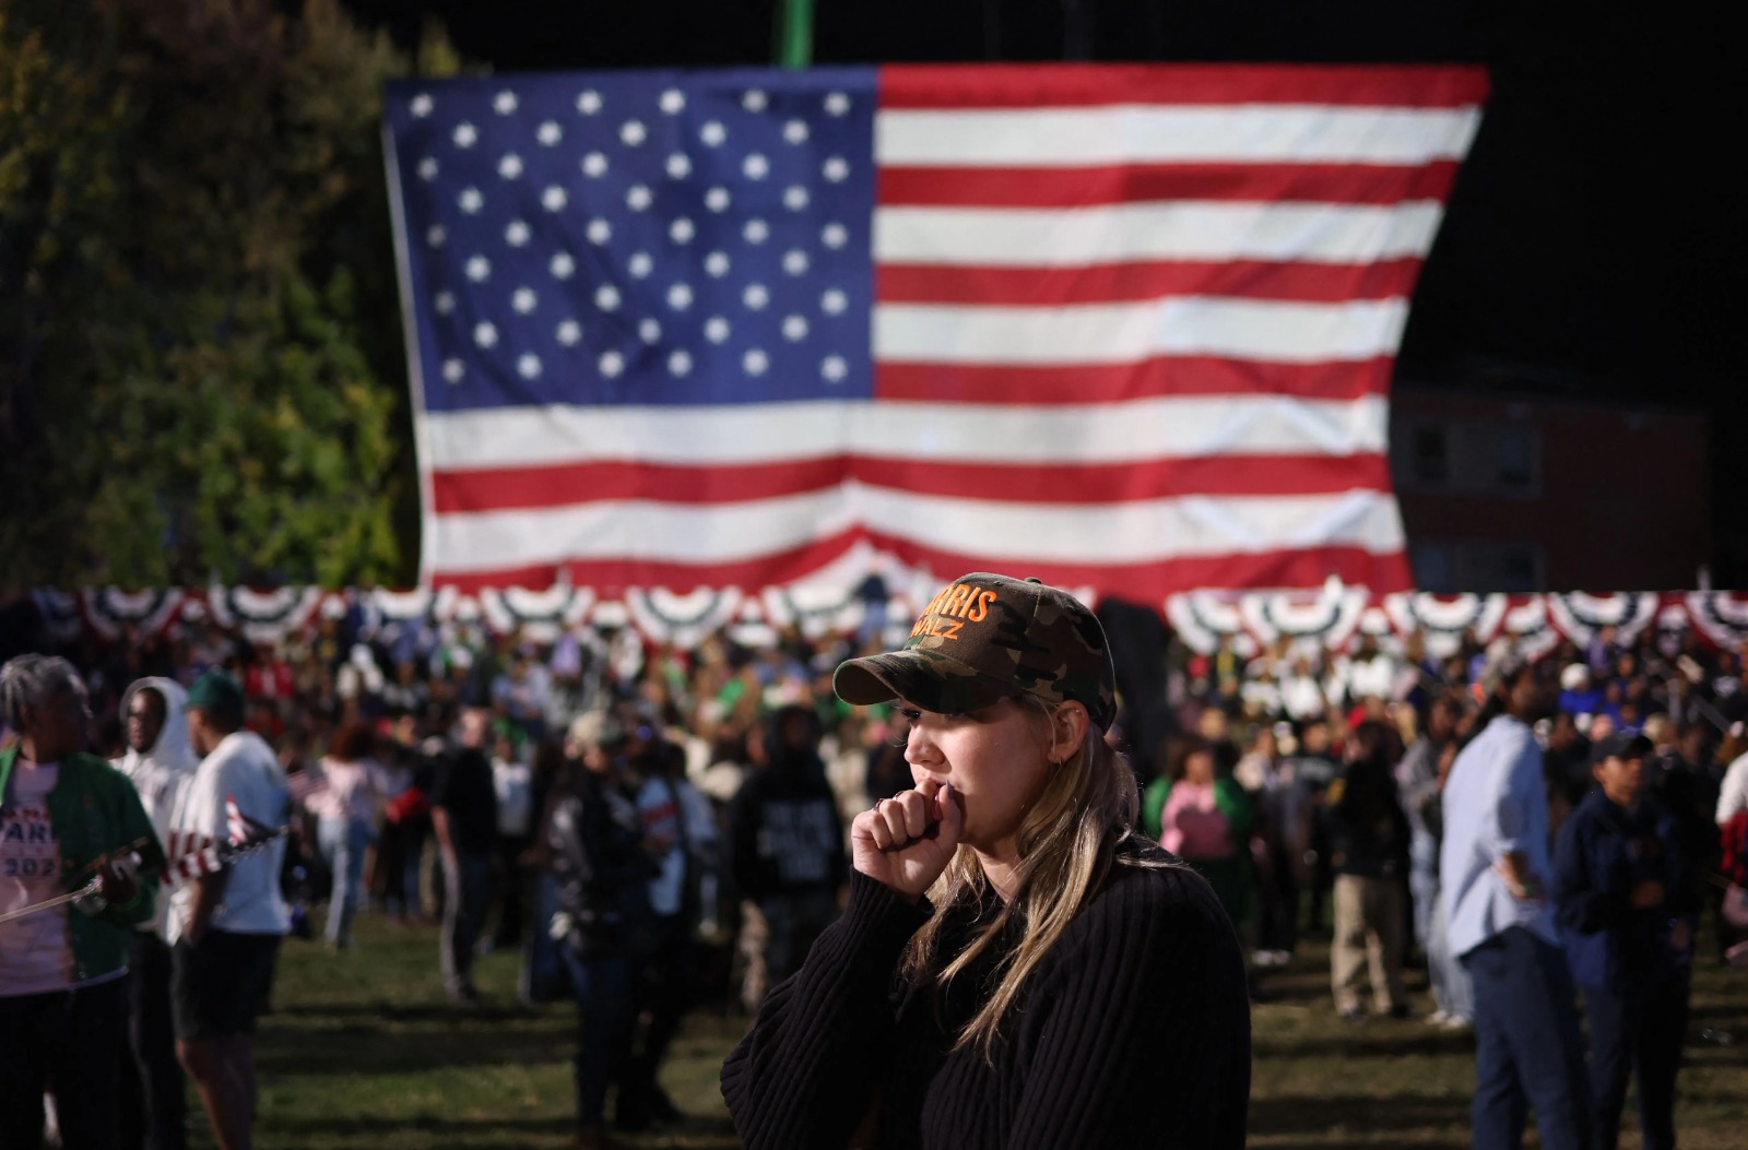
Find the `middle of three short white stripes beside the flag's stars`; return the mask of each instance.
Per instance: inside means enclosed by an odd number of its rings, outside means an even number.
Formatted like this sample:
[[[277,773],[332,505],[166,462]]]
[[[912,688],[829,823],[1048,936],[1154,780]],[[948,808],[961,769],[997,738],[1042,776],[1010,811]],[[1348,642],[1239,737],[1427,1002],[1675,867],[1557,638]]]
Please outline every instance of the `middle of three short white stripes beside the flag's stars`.
[[[1127,260],[1367,264],[1419,259],[1444,208],[1306,203],[1127,203],[1096,208],[912,208],[874,211],[886,264],[1073,267]]]

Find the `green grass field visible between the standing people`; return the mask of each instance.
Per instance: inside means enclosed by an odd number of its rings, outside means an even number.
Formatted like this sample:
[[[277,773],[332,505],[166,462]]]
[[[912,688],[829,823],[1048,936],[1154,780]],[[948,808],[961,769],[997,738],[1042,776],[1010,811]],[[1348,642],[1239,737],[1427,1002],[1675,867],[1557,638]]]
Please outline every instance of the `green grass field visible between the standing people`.
[[[514,954],[484,956],[486,1007],[461,1010],[442,994],[430,926],[392,930],[360,916],[360,946],[343,954],[288,939],[278,1008],[262,1021],[257,1042],[257,1143],[264,1150],[568,1147],[575,1014],[565,1003],[517,1005],[516,963]],[[1474,1052],[1467,1036],[1414,1021],[1339,1021],[1320,946],[1302,951],[1269,986],[1280,996],[1257,1007],[1253,1021],[1252,1147],[1468,1145]],[[1425,994],[1416,1003],[1430,1008]],[[694,1014],[664,1071],[687,1122],[626,1143],[738,1147],[717,1068],[741,1029],[722,1010]],[[1703,1040],[1708,1029],[1736,1040]],[[1748,972],[1708,965],[1699,973],[1680,1087],[1685,1150],[1748,1147]],[[213,1145],[198,1106],[191,1126],[192,1145]],[[1638,1147],[1636,1129],[1624,1145]]]

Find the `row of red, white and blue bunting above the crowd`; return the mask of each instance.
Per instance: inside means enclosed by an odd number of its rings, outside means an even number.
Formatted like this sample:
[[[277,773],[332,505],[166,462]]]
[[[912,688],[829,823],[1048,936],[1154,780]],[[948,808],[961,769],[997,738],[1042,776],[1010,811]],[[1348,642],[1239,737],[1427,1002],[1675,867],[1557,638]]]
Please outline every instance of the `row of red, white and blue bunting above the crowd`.
[[[147,638],[178,622],[213,622],[241,631],[250,641],[273,643],[311,629],[322,619],[344,617],[353,608],[385,624],[482,626],[496,634],[521,634],[551,643],[565,633],[600,640],[629,633],[649,643],[696,647],[710,634],[729,634],[746,645],[778,641],[787,627],[809,640],[865,636],[884,622],[888,638],[902,640],[909,620],[935,582],[926,577],[888,578],[884,605],[869,603],[858,589],[781,587],[760,594],[734,589],[699,589],[676,594],[662,589],[629,591],[615,599],[587,587],[488,589],[465,594],[439,591],[322,591],[316,587],[208,587],[122,591],[117,587],[65,592],[44,589],[35,603],[49,634],[70,641],[89,629],[114,641],[124,633]],[[1091,603],[1091,596],[1082,594]],[[1096,603],[1092,603],[1096,606]],[[1168,598],[1166,622],[1196,652],[1211,654],[1222,640],[1241,655],[1287,641],[1295,647],[1351,650],[1363,638],[1402,641],[1419,636],[1426,652],[1447,657],[1465,640],[1482,647],[1512,640],[1540,657],[1561,640],[1587,645],[1603,627],[1631,641],[1654,627],[1664,643],[1694,634],[1710,647],[1748,645],[1748,592],[1692,591],[1612,594],[1390,594],[1330,582],[1308,591],[1218,592],[1194,591]],[[876,608],[883,608],[876,610]]]

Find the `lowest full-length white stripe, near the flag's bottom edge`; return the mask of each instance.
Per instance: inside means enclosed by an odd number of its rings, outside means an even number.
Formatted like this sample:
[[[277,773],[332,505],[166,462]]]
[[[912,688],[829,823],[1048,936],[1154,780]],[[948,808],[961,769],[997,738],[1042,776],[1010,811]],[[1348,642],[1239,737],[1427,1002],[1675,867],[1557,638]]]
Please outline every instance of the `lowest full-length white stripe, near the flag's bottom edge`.
[[[547,561],[736,563],[832,538],[853,524],[953,552],[1051,563],[1147,563],[1295,547],[1402,549],[1383,491],[1314,496],[1185,496],[1127,503],[1000,503],[858,484],[745,503],[685,507],[614,500],[444,516],[437,544],[451,570]]]

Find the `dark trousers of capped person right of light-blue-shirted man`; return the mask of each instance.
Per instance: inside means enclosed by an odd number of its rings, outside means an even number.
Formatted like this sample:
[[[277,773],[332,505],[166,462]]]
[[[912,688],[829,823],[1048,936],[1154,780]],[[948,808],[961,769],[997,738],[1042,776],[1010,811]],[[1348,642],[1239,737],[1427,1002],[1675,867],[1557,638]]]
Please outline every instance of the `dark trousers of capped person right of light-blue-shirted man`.
[[[1591,1021],[1591,1105],[1596,1150],[1615,1150],[1627,1078],[1640,1084],[1640,1131],[1645,1150],[1675,1150],[1675,1073],[1682,1068],[1689,973],[1612,991],[1584,987]]]

